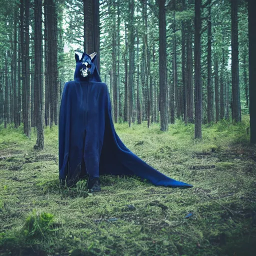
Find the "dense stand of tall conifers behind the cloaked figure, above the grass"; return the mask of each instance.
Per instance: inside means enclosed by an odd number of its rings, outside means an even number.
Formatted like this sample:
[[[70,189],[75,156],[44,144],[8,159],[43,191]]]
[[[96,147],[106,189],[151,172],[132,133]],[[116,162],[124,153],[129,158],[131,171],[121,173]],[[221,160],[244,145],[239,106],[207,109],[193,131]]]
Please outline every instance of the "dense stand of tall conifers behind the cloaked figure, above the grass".
[[[250,105],[256,142],[253,4],[0,0],[0,122],[23,123],[28,137],[36,127],[35,147],[43,148],[43,126],[58,124],[62,89],[73,79],[74,52],[96,51],[114,122],[167,130],[182,119],[201,138],[201,123],[239,122]]]

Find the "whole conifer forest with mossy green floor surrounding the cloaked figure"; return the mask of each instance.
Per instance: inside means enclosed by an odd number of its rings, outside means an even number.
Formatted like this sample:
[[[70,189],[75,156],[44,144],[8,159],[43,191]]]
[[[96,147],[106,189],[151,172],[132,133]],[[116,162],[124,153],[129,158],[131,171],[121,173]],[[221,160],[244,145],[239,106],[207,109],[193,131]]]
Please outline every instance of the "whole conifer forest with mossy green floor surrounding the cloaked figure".
[[[0,256],[254,255],[256,0],[0,0]],[[61,96],[97,53],[123,143],[165,175],[58,180]]]

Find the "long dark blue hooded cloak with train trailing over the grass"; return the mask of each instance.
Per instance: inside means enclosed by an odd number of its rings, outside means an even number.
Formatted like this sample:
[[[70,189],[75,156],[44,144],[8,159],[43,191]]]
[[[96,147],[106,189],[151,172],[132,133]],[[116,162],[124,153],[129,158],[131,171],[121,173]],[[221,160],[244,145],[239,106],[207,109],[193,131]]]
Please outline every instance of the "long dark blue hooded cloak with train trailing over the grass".
[[[114,129],[109,92],[99,77],[96,53],[91,56],[93,53],[83,53],[79,60],[75,54],[74,80],[63,88],[58,134],[60,181],[66,180],[69,186],[85,174],[135,174],[154,185],[192,187],[154,169],[123,144]],[[90,74],[84,77],[81,70]]]

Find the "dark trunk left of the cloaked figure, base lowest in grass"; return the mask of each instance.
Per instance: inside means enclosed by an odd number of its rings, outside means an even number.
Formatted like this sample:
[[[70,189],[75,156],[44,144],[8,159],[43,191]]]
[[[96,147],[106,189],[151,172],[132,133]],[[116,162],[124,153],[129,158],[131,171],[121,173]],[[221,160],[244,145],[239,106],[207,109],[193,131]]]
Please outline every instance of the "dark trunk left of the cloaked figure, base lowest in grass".
[[[34,108],[38,149],[44,148],[42,117],[42,0],[34,0]]]

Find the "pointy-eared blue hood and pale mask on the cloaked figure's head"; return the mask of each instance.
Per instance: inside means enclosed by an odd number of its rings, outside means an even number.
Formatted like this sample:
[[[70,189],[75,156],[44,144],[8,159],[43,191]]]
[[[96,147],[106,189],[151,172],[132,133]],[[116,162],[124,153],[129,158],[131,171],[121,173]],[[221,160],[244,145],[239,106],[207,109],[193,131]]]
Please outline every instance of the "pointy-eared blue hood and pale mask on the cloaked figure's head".
[[[101,82],[98,69],[97,69],[97,53],[93,52],[87,54],[82,53],[79,59],[78,54],[74,54],[75,57],[75,71],[74,80],[75,81],[87,81],[87,82]]]

